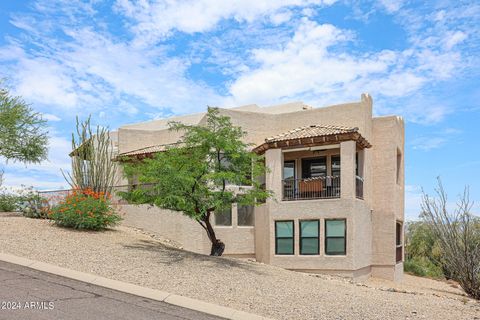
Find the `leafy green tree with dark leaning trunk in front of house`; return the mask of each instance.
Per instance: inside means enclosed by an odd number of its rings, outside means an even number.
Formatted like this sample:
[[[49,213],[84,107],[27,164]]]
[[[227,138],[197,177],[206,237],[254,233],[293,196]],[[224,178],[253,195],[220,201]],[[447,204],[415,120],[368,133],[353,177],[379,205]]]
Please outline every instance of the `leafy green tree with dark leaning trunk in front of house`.
[[[150,186],[123,196],[137,204],[183,212],[207,233],[210,254],[221,256],[225,244],[216,237],[211,219],[233,203],[255,205],[271,196],[258,179],[265,174],[264,162],[242,141],[245,132],[218,109],[208,109],[204,126],[169,125],[183,137],[152,159],[127,162],[127,176]]]

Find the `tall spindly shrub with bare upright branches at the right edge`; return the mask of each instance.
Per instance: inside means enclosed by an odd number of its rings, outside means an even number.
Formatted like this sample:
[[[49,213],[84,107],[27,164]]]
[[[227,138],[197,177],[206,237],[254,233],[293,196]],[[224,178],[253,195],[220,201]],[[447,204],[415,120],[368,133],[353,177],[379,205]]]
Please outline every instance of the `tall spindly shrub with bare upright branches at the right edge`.
[[[447,194],[438,179],[438,198],[423,194],[422,217],[429,223],[442,248],[447,270],[465,292],[480,300],[480,220],[471,213],[468,188],[453,212],[447,209]]]

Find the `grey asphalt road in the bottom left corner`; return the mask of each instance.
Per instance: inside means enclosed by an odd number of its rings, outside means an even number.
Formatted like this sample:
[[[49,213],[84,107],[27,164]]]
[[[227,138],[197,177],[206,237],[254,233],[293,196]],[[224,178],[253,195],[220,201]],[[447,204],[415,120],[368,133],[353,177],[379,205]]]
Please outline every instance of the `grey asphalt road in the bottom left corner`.
[[[0,261],[0,319],[221,318]]]

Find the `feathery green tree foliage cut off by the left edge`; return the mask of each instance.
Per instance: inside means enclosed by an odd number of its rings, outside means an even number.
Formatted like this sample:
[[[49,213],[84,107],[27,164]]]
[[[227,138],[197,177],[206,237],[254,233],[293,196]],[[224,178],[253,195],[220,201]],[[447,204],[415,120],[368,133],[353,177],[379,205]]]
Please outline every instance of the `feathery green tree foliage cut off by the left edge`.
[[[1,82],[0,82],[1,85]],[[21,97],[0,88],[0,156],[7,161],[38,163],[47,158],[46,120]]]

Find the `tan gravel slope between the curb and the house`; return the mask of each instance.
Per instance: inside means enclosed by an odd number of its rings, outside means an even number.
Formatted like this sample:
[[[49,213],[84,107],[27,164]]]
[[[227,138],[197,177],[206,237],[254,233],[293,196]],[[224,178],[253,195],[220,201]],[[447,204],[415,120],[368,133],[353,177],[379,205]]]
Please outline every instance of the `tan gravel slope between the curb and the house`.
[[[362,284],[169,246],[140,230],[81,232],[0,214],[0,251],[276,319],[479,319],[454,283]]]

